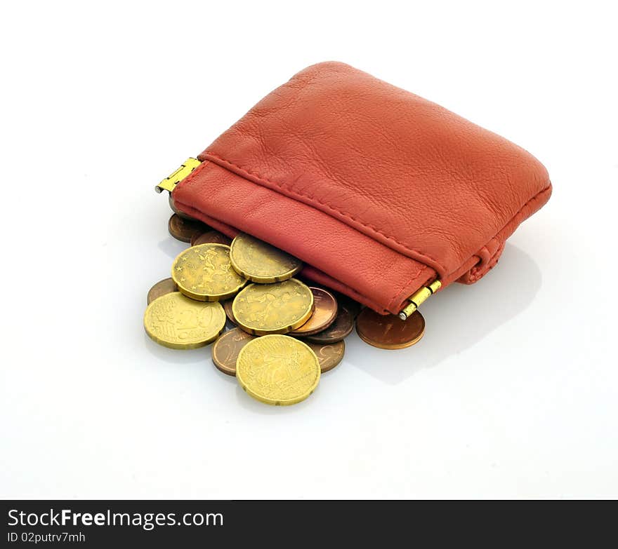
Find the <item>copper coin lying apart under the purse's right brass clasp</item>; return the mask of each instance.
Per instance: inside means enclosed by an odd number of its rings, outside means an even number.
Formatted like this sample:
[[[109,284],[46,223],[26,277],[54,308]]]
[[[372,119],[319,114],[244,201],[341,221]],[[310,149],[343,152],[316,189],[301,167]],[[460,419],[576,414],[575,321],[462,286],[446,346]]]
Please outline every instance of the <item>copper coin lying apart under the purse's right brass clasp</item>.
[[[356,319],[356,331],[365,343],[383,349],[400,349],[414,345],[425,333],[425,319],[414,313],[407,320],[397,315],[380,315],[368,307]]]

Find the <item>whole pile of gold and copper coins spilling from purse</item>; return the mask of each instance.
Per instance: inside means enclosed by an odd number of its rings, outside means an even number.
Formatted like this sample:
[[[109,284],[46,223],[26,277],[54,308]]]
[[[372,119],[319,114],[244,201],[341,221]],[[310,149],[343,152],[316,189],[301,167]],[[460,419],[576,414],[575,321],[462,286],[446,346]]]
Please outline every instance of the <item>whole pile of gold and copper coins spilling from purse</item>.
[[[303,268],[296,257],[248,234],[231,240],[176,210],[171,197],[170,205],[169,232],[191,245],[174,259],[171,278],[148,292],[146,333],[171,348],[214,342],[214,365],[257,400],[291,405],[307,398],[320,374],[343,359],[355,325],[363,341],[380,348],[423,336],[418,311],[404,321],[363,309],[295,278]]]

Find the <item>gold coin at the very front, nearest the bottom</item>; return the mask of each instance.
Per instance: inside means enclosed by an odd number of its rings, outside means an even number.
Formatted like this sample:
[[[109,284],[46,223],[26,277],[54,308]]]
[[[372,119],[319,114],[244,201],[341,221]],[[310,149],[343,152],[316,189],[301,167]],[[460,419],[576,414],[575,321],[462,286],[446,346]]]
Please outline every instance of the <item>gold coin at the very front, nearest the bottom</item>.
[[[249,341],[238,353],[236,379],[253,398],[283,406],[305,400],[320,381],[320,362],[294,337],[267,335]]]

